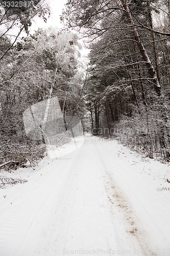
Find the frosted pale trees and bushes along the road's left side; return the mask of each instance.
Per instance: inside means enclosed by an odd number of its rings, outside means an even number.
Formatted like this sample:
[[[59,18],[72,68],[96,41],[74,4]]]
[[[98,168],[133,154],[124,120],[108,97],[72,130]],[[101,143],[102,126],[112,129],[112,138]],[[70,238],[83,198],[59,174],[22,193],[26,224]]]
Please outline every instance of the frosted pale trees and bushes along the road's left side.
[[[10,168],[28,161],[33,164],[44,157],[43,136],[40,140],[30,139],[23,124],[23,113],[33,104],[57,97],[64,116],[83,116],[85,106],[80,100],[81,46],[76,36],[42,29],[29,34],[32,17],[45,19],[48,14],[42,1],[35,1],[35,6],[32,2],[26,10],[7,10],[0,3],[0,167]],[[20,39],[23,30],[28,36]],[[10,38],[9,33],[15,36]]]

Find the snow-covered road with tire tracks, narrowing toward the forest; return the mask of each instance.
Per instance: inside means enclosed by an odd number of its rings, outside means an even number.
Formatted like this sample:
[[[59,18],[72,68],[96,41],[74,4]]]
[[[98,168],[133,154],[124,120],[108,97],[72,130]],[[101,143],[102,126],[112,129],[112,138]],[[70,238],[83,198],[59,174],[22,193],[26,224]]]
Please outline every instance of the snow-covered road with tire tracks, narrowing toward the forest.
[[[79,150],[71,153],[71,160],[58,159],[57,167],[54,164],[57,169],[50,174],[46,172],[44,178],[40,176],[38,184],[32,181],[23,184],[22,193],[26,193],[23,197],[20,195],[23,205],[20,208],[18,205],[17,211],[11,211],[8,216],[11,219],[1,245],[8,242],[11,248],[3,256],[13,256],[16,248],[15,256],[61,256],[63,248],[80,246],[131,250],[130,255],[135,254],[134,248],[142,248],[139,255],[152,254],[142,239],[142,227],[139,227],[125,193],[112,179],[114,159],[109,159],[102,145],[97,138],[94,141],[90,138],[89,143],[85,141]],[[51,184],[49,190],[45,187],[46,182]],[[29,209],[32,203],[35,204],[33,213]],[[24,216],[28,212],[31,216],[27,224],[28,215]],[[19,224],[23,227],[19,227],[20,234],[11,243],[8,238],[15,236]],[[10,236],[9,230],[12,230]],[[21,240],[17,241],[18,238]],[[146,248],[150,254],[144,252]]]

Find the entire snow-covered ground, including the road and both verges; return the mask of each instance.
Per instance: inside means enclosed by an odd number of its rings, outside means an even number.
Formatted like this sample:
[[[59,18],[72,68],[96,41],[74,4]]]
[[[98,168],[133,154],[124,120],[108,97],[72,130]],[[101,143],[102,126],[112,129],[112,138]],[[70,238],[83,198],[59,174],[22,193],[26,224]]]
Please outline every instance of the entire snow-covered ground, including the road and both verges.
[[[93,136],[0,189],[0,255],[170,255],[170,166]],[[168,190],[169,188],[169,190]]]

